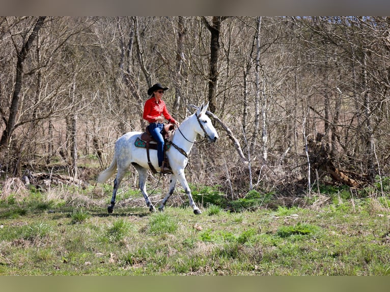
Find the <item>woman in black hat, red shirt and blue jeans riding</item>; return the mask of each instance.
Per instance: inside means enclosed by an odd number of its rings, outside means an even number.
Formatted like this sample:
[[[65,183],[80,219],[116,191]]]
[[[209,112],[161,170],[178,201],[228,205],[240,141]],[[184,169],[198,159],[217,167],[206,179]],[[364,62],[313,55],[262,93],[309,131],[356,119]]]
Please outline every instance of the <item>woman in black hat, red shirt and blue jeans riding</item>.
[[[165,102],[161,99],[165,90],[168,90],[168,87],[162,87],[160,83],[156,83],[148,89],[148,95],[151,97],[145,102],[143,114],[144,120],[150,123],[148,126],[150,134],[157,141],[158,166],[161,167],[161,172],[170,171],[168,167],[162,165],[164,160],[164,138],[161,131],[164,128],[164,118],[168,120],[168,123],[179,127],[179,122],[172,118],[166,109]]]

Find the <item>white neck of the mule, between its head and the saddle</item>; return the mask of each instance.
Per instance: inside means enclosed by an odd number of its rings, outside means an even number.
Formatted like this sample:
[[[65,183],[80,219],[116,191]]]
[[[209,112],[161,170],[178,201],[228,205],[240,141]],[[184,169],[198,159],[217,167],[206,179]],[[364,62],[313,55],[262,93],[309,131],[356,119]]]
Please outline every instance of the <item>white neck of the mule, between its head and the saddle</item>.
[[[183,149],[186,153],[191,151],[193,142],[195,142],[198,135],[198,133],[194,130],[194,122],[197,123],[195,115],[192,115],[188,119],[184,120],[179,129],[175,131],[172,138],[172,142],[178,145],[178,147]]]

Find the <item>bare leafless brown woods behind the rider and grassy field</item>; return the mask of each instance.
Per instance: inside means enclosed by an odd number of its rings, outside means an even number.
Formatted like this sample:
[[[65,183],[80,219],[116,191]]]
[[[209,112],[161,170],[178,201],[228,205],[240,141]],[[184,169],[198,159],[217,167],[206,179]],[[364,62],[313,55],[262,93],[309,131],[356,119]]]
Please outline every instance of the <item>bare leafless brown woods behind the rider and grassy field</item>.
[[[0,17],[2,180],[93,181],[160,82],[179,122],[202,102],[218,118],[191,183],[367,186],[389,172],[389,57],[388,17]]]

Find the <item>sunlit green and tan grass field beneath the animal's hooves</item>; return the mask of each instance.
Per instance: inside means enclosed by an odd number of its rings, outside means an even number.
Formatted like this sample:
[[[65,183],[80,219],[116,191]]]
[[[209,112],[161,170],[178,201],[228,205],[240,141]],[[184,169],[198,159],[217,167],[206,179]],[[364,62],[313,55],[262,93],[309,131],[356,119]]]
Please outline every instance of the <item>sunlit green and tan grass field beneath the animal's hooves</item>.
[[[122,192],[128,203],[108,215],[110,188],[3,198],[0,275],[390,275],[387,197],[239,212],[207,203],[196,216],[183,194],[149,213],[141,194]]]

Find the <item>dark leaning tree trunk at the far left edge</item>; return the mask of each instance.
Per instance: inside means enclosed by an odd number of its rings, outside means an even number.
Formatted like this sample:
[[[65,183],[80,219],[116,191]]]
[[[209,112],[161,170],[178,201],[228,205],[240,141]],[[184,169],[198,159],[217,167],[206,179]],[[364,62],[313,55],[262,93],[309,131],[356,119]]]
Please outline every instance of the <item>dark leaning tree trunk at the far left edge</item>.
[[[29,53],[31,46],[33,45],[33,42],[38,35],[38,32],[42,27],[45,18],[46,16],[40,16],[38,18],[29,38],[23,44],[20,51],[17,52],[15,86],[12,94],[12,102],[11,102],[10,113],[7,120],[6,129],[3,131],[2,138],[0,139],[0,148],[8,144],[12,132],[15,129],[16,116],[18,113],[19,100],[20,100],[19,94],[22,87],[22,79],[23,79],[23,62],[26,59],[27,53]]]

